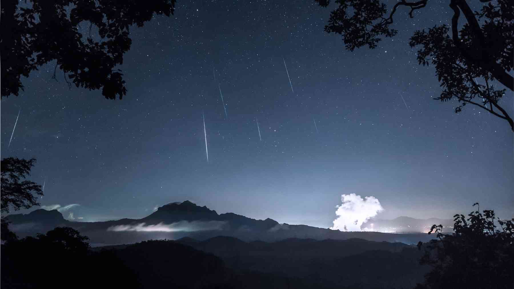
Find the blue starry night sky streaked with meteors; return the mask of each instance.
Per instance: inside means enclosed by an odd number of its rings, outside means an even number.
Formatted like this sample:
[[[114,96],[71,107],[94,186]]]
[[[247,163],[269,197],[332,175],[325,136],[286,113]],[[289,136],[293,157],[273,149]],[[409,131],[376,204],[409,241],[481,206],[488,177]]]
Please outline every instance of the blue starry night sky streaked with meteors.
[[[377,198],[382,219],[450,219],[474,202],[514,217],[508,123],[432,100],[435,69],[408,45],[416,29],[449,23],[448,4],[430,2],[414,19],[399,10],[396,37],[354,52],[323,31],[331,8],[179,2],[174,16],[131,29],[123,100],[68,89],[62,71],[51,79],[54,62],[22,78],[25,91],[1,102],[2,157],[36,158],[41,204],[80,204],[70,209],[78,221],[190,200],[329,227],[351,193]],[[511,115],[512,101],[508,92]]]

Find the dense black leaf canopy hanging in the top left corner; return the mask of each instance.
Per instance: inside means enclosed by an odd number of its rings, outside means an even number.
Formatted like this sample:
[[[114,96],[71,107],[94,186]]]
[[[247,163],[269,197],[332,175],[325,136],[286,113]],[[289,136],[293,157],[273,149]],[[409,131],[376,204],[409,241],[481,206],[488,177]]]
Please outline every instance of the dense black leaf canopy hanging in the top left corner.
[[[24,88],[21,75],[28,77],[32,70],[57,60],[52,77],[56,81],[59,66],[69,87],[68,79],[77,87],[102,88],[106,99],[115,99],[116,94],[121,99],[125,81],[115,67],[123,63],[132,44],[129,27],[143,26],[154,13],[170,16],[174,6],[175,0],[2,1],[1,97],[18,95]],[[86,35],[79,32],[81,25]]]

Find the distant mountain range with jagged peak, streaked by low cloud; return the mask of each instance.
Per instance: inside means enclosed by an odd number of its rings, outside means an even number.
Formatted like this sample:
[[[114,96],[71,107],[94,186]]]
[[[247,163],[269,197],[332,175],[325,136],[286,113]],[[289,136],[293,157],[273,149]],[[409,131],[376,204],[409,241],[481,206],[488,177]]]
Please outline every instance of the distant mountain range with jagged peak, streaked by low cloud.
[[[36,209],[29,214],[13,214],[6,217],[10,227],[20,237],[46,233],[56,226],[73,227],[90,238],[92,245],[128,244],[149,239],[177,240],[190,237],[206,240],[216,236],[231,236],[244,241],[279,241],[288,238],[314,240],[346,240],[360,238],[369,241],[402,242],[415,244],[427,241],[433,235],[422,234],[421,226],[434,223],[438,219],[417,220],[400,217],[394,220],[375,220],[377,227],[414,227],[411,234],[389,234],[380,232],[341,232],[328,228],[307,225],[279,224],[272,219],[255,220],[245,216],[226,213],[217,214],[206,206],[198,206],[190,201],[170,203],[159,207],[154,213],[142,219],[121,219],[105,222],[74,222],[64,219],[57,210]],[[449,221],[449,220],[443,220]],[[371,224],[370,222],[368,222]],[[366,224],[366,223],[365,223]],[[392,232],[396,232],[392,231]],[[414,233],[415,232],[415,233]]]

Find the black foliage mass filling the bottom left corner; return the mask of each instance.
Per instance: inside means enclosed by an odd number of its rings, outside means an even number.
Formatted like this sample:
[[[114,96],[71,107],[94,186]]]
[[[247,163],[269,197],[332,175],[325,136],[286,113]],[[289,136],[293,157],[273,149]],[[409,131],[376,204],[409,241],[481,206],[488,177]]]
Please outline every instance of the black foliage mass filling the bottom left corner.
[[[2,288],[140,288],[113,252],[90,252],[88,238],[58,227],[2,245]]]

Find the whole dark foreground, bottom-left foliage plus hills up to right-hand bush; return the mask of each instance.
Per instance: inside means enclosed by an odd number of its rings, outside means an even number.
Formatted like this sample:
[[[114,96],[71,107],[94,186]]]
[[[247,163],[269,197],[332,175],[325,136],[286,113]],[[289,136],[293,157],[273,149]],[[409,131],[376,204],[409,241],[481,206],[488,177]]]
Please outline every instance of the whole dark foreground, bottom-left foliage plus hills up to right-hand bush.
[[[69,245],[2,245],[2,288],[412,288],[425,273],[415,247],[361,239]]]

